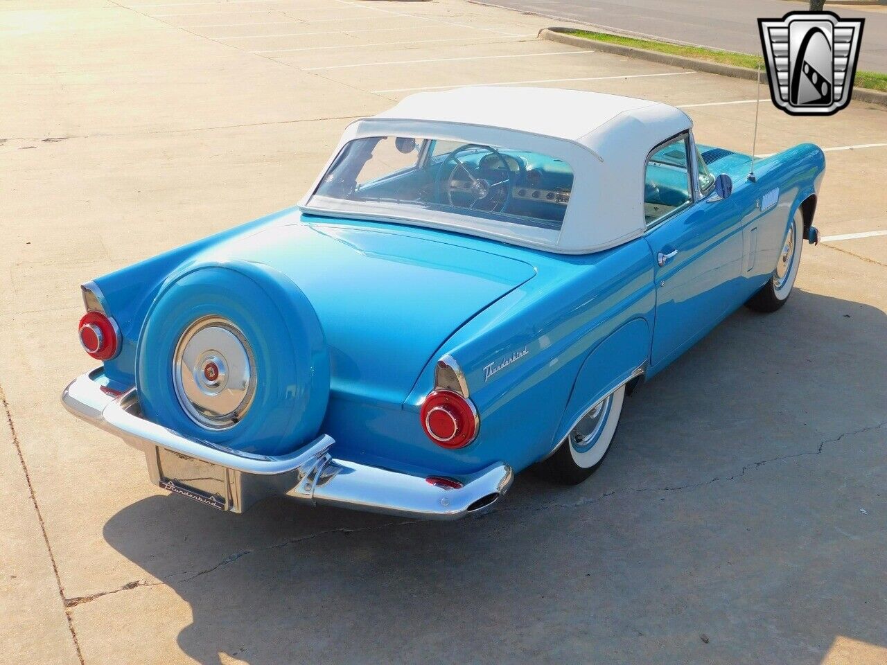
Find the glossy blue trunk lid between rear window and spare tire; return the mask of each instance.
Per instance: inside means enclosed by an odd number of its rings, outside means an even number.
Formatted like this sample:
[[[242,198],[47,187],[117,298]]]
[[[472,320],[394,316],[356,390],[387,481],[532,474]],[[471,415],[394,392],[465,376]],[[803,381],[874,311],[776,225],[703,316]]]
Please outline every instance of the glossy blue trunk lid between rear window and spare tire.
[[[292,279],[326,334],[334,395],[398,404],[453,332],[536,274],[458,236],[330,219],[272,225],[201,258],[263,263]]]

